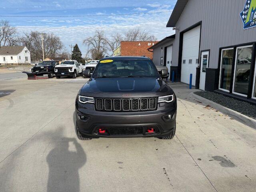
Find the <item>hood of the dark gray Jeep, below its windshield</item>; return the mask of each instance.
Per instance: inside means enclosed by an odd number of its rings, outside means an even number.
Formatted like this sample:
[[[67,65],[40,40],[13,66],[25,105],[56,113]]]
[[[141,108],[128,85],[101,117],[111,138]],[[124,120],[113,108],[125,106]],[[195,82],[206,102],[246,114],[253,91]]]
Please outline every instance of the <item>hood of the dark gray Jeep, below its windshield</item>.
[[[101,98],[156,97],[173,94],[162,79],[143,78],[92,78],[80,89],[82,96]]]

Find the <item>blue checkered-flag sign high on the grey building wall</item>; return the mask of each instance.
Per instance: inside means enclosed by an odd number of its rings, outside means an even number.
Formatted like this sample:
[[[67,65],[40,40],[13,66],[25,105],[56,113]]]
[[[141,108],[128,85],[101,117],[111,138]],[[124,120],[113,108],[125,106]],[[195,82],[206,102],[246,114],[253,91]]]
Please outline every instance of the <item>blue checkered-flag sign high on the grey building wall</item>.
[[[256,0],[246,0],[240,17],[244,23],[244,29],[256,27]]]

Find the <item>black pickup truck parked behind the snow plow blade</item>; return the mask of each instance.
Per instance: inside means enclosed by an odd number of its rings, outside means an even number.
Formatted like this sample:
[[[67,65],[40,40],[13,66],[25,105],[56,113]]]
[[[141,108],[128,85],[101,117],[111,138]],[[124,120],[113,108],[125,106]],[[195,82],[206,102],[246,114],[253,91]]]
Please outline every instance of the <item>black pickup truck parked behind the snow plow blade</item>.
[[[48,75],[49,78],[53,78],[55,61],[43,61],[31,68],[31,72],[36,75]]]

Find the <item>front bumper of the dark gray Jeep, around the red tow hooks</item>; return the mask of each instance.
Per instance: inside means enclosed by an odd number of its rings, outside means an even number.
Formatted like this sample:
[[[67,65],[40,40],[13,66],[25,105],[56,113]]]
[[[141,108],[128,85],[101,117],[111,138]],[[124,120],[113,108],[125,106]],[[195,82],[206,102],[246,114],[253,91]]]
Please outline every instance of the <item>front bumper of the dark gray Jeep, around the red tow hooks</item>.
[[[102,112],[94,109],[94,104],[76,102],[76,122],[80,133],[85,137],[162,137],[176,127],[176,102],[160,103],[155,111],[144,112]],[[171,119],[164,117],[171,115]],[[84,120],[80,117],[84,116]],[[154,128],[154,132],[147,130]],[[99,129],[106,130],[100,134]],[[108,130],[135,130],[132,134],[110,134]]]

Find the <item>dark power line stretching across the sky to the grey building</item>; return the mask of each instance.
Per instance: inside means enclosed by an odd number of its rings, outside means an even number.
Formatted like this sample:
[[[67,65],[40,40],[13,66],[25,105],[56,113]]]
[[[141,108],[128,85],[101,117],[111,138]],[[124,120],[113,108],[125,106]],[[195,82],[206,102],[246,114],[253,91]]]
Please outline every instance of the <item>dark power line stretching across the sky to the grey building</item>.
[[[140,14],[157,14],[157,13],[170,13],[171,11],[161,11],[161,12],[148,12],[148,13],[124,13],[124,14],[102,14],[102,15],[73,15],[73,16],[3,16],[0,15],[0,17],[58,17],[58,18],[64,18],[64,17],[101,17],[101,16],[119,16],[119,15],[140,15]]]

